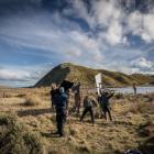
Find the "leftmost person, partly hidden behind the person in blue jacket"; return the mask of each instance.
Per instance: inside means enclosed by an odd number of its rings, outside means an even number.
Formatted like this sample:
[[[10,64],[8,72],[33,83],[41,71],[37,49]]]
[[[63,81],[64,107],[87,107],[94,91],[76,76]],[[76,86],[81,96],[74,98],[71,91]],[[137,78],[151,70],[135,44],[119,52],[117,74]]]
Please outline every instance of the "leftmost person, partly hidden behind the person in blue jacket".
[[[50,94],[51,94],[51,101],[52,101],[52,111],[55,111],[55,99],[56,96],[58,95],[58,89],[56,85],[52,85]]]

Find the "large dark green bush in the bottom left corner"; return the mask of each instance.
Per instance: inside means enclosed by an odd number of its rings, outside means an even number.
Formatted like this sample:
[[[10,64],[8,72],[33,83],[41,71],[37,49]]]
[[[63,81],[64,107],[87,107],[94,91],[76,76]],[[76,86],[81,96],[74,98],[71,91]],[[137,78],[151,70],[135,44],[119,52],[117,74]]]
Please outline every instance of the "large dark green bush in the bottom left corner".
[[[32,133],[15,116],[0,114],[0,153],[1,154],[44,154],[42,141]]]

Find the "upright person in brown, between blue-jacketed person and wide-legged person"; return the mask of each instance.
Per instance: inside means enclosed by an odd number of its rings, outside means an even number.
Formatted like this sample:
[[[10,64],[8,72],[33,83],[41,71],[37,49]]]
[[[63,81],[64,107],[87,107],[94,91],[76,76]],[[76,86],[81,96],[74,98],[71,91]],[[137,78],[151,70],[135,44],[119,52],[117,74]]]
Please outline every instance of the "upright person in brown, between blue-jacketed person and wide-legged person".
[[[75,87],[74,87],[74,91],[75,91],[75,111],[77,111],[77,114],[79,114],[79,109],[80,109],[80,102],[81,102],[81,98],[80,98],[80,82],[78,82]]]

